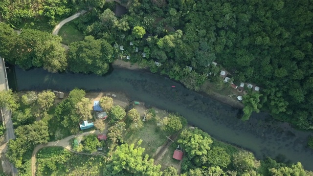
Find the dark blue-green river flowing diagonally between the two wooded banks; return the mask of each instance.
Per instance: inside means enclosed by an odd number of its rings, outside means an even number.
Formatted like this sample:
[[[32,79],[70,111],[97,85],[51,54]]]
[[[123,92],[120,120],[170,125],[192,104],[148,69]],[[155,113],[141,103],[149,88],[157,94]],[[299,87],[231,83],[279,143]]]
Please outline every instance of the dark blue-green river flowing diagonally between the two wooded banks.
[[[266,113],[254,113],[250,120],[236,118],[237,109],[188,90],[157,74],[115,68],[106,76],[71,73],[48,73],[44,69],[15,69],[16,80],[9,74],[10,85],[18,90],[115,91],[126,93],[132,100],[145,102],[159,109],[179,112],[190,124],[212,137],[252,151],[257,158],[270,156],[285,161],[300,161],[313,170],[313,150],[307,148],[312,132],[299,132],[288,124],[274,121]],[[171,86],[176,86],[172,88]]]

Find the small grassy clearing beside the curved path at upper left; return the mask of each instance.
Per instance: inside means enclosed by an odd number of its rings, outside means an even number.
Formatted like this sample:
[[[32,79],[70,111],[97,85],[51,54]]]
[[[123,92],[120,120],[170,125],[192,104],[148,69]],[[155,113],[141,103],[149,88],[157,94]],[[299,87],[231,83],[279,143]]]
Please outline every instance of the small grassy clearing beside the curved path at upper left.
[[[62,26],[58,35],[63,38],[62,43],[67,45],[72,42],[82,41],[85,38],[84,34],[77,29],[73,22],[68,22]]]

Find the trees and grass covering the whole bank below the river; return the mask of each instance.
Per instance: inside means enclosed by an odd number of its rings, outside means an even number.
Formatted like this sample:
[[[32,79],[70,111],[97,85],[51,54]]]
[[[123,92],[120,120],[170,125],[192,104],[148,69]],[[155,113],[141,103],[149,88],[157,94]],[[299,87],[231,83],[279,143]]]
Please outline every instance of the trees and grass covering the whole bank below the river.
[[[6,93],[8,99],[1,98],[0,103],[12,110],[17,136],[9,141],[6,157],[21,176],[30,174],[30,154],[36,145],[79,132],[78,124],[83,120],[95,121],[91,101],[85,98],[82,89],[70,91],[61,102],[50,91]],[[60,147],[44,148],[37,155],[37,175],[313,176],[300,162],[279,163],[269,157],[257,160],[248,151],[217,141],[198,128],[188,128],[187,121],[179,114],[149,109],[143,122],[136,107],[126,112],[107,96],[100,98],[100,102],[108,112],[108,119],[102,121],[104,125],[95,127],[103,131],[105,126],[108,139],[99,142],[96,135],[91,134],[71,142],[76,152],[94,153],[102,147],[100,155],[74,154]],[[175,140],[169,146],[164,145],[166,136]],[[184,151],[182,163],[171,158],[178,145]],[[164,146],[168,152],[158,156],[157,149]]]

